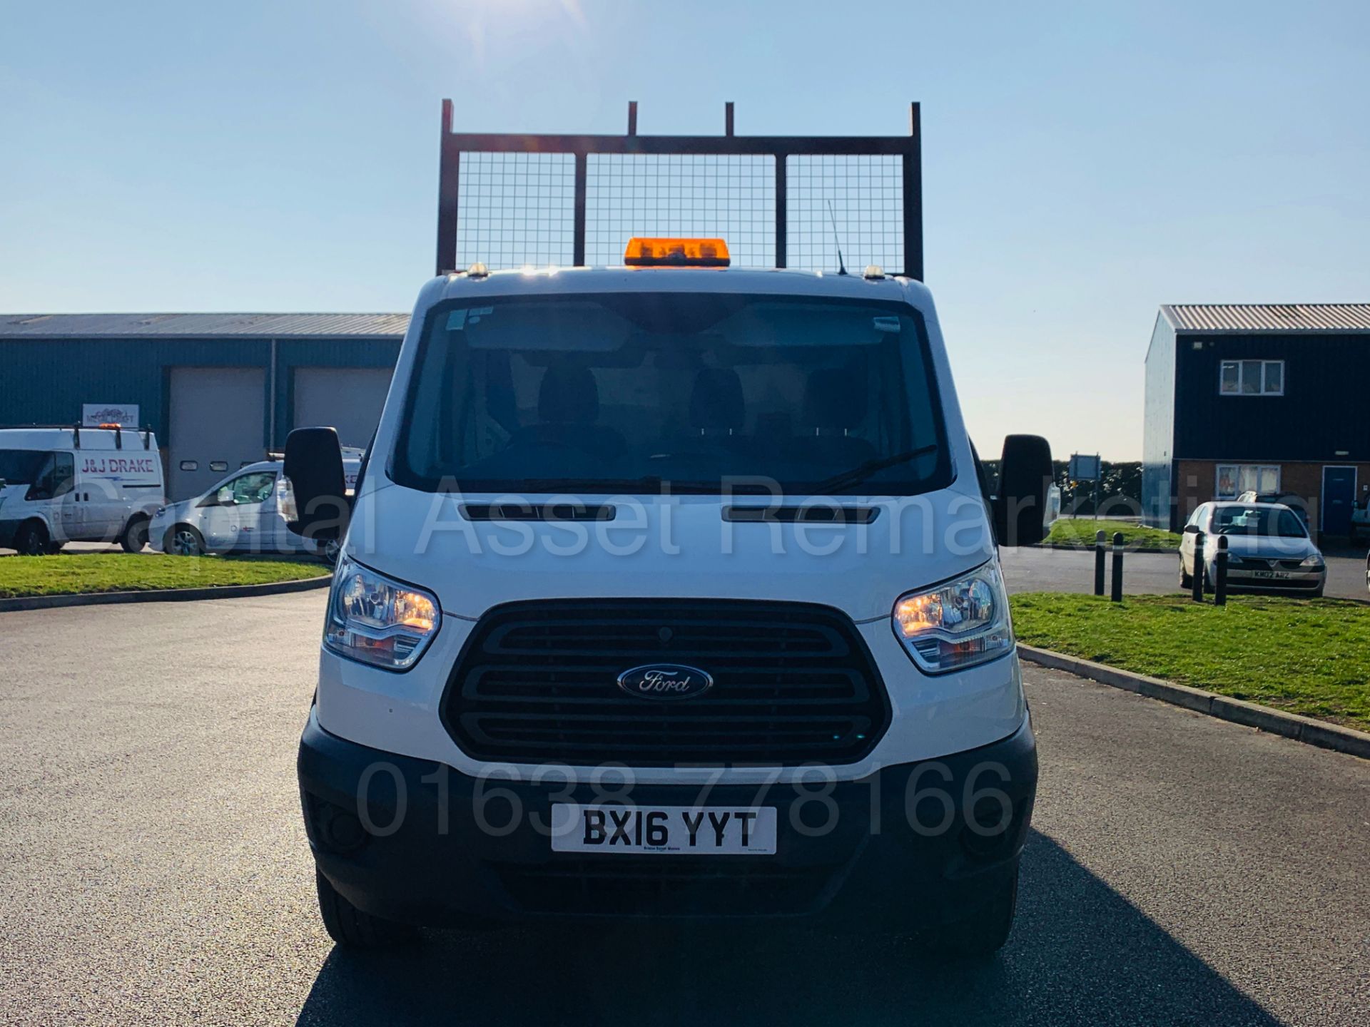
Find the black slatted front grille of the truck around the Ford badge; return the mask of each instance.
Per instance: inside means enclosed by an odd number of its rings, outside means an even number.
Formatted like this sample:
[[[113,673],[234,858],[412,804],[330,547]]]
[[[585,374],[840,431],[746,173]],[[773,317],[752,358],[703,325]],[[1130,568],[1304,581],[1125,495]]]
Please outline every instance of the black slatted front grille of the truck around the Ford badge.
[[[671,663],[714,678],[653,701],[618,676]],[[549,600],[477,623],[443,698],[474,759],[630,767],[862,759],[889,723],[870,652],[841,612],[748,600]]]

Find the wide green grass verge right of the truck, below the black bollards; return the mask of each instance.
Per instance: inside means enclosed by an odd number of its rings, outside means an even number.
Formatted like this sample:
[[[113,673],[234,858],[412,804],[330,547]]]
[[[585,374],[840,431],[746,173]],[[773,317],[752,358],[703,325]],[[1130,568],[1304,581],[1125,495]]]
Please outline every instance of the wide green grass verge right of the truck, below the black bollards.
[[[1345,600],[1030,592],[1011,598],[1028,645],[1370,730],[1370,607]]]

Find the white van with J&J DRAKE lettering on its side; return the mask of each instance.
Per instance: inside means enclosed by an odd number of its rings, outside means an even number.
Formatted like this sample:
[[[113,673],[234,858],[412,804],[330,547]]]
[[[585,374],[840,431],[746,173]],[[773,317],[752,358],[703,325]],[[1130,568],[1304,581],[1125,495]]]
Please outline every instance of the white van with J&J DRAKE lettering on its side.
[[[166,503],[156,435],[119,426],[0,429],[0,548],[118,541],[136,553]]]

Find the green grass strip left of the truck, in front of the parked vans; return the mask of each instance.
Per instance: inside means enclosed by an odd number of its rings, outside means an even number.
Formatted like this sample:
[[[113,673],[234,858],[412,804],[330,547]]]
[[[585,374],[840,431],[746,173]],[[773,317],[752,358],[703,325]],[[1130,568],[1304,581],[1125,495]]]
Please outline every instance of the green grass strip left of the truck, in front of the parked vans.
[[[70,596],[86,592],[203,589],[266,585],[329,574],[318,560],[256,560],[156,553],[60,553],[0,557],[0,597]]]

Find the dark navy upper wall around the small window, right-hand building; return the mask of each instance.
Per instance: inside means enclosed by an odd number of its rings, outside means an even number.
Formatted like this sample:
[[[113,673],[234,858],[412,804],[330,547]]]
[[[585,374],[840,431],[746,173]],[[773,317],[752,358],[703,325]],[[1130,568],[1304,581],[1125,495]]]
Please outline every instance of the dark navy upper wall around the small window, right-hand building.
[[[1370,335],[1181,333],[1175,349],[1177,460],[1370,460]],[[1221,396],[1221,362],[1243,359],[1284,360],[1284,396]]]

